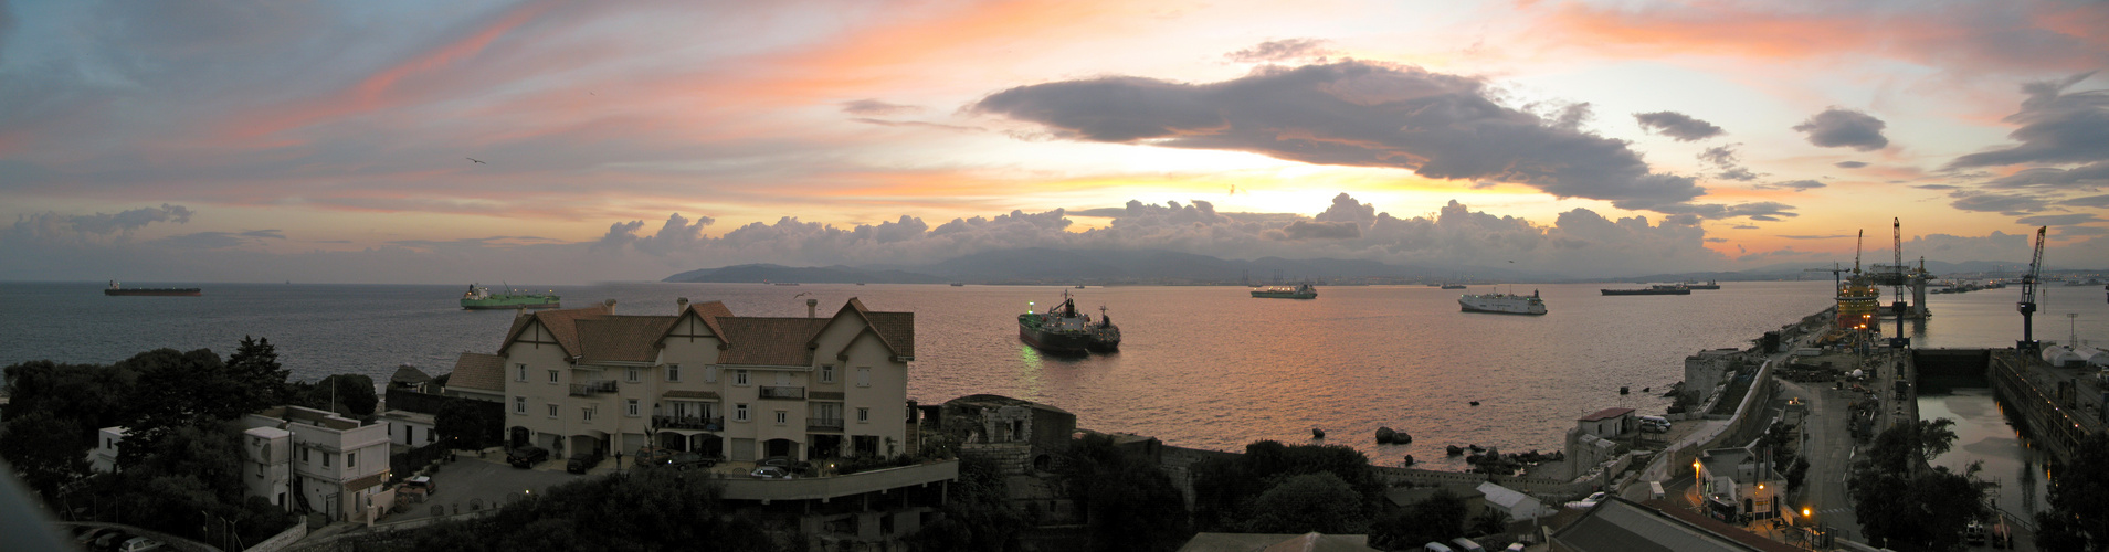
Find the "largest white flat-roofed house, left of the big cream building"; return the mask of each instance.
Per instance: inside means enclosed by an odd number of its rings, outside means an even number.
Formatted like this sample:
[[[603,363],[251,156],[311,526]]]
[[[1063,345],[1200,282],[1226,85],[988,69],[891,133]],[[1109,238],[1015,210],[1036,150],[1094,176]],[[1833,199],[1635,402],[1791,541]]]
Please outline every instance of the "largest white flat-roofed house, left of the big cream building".
[[[243,426],[287,432],[285,447],[270,449],[268,455],[251,455],[249,464],[262,468],[243,468],[268,472],[278,461],[287,464],[293,493],[280,506],[289,510],[323,512],[331,520],[354,520],[375,506],[373,495],[388,480],[388,426],[359,423],[359,419],[306,407],[270,407],[243,417]],[[255,438],[270,440],[276,434],[247,434],[247,438],[255,447]],[[278,451],[285,455],[280,457]]]

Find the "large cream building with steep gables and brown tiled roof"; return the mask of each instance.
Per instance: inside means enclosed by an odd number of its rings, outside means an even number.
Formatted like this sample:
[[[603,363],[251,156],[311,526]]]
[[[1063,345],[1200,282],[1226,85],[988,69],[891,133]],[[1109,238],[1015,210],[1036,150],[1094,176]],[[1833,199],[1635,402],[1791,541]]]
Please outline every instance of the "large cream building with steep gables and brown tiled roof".
[[[553,457],[639,447],[734,461],[913,453],[915,314],[850,299],[820,318],[806,305],[806,318],[734,316],[688,299],[664,316],[616,314],[616,301],[523,312],[496,356],[464,354],[458,367],[498,369],[508,445]]]

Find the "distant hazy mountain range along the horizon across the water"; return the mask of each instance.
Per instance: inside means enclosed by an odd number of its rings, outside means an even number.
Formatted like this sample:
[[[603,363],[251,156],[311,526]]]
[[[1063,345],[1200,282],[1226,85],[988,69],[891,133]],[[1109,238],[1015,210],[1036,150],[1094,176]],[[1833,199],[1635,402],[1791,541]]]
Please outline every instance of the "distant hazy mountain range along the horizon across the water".
[[[1822,270],[1814,270],[1822,268]],[[1548,272],[1476,265],[1394,265],[1350,259],[1217,259],[1177,251],[1111,249],[1004,249],[953,257],[930,265],[820,265],[772,263],[704,268],[666,276],[664,282],[804,282],[804,284],[1421,284],[1421,282],[1683,282],[1683,280],[1822,280],[1831,265],[1782,263],[1742,272],[1677,272],[1632,278],[1571,278]],[[1843,265],[1852,268],[1852,265]],[[1917,268],[1917,263],[1913,263]],[[1926,261],[1934,274],[2014,274],[2016,263]],[[1814,270],[1814,272],[1812,272]],[[1875,270],[1864,265],[1862,270]]]

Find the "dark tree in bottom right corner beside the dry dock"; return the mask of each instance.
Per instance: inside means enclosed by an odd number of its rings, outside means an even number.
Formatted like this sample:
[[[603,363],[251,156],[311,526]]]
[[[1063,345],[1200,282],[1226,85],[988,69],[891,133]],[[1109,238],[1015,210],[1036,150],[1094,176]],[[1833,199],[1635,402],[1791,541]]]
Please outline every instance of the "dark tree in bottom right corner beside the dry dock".
[[[2050,510],[2035,512],[2035,548],[2109,550],[2109,434],[2092,434],[2050,480]]]

